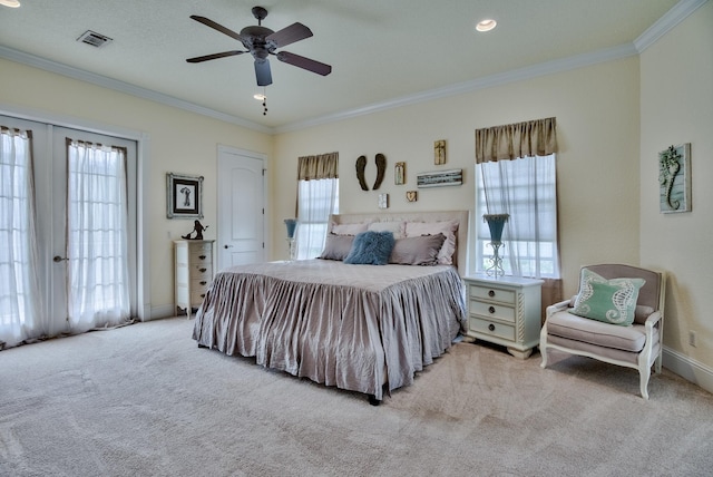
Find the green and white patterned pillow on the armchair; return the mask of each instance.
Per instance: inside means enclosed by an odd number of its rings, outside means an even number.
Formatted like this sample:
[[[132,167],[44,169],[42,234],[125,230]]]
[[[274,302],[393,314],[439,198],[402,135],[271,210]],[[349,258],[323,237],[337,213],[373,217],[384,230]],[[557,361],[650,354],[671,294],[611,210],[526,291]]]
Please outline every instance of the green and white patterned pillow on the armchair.
[[[583,269],[579,294],[569,312],[605,323],[628,327],[634,322],[638,290],[644,283],[644,279],[606,280],[590,270]]]

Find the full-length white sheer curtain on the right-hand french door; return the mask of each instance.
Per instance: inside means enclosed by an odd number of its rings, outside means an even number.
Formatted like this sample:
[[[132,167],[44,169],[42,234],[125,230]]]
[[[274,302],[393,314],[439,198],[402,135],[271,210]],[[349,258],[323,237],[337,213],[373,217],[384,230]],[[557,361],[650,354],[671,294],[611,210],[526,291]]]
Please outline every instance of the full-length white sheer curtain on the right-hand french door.
[[[126,152],[67,139],[70,329],[129,319]]]

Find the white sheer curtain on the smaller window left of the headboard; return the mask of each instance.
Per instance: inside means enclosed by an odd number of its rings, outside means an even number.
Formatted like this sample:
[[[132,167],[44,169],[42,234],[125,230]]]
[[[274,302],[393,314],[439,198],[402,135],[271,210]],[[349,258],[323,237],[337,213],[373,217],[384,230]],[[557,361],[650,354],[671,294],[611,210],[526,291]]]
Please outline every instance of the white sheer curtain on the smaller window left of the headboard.
[[[324,249],[330,214],[339,213],[339,178],[297,184],[296,259],[314,259]]]

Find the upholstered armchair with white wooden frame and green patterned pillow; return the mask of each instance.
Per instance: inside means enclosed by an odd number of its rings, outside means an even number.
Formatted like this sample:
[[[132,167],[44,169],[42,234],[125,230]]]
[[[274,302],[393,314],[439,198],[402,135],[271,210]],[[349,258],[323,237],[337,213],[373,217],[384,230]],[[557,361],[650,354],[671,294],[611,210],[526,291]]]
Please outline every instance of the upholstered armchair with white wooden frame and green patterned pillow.
[[[648,399],[652,367],[661,372],[665,275],[623,264],[582,269],[579,291],[547,306],[540,331],[541,367],[550,349],[638,370]]]

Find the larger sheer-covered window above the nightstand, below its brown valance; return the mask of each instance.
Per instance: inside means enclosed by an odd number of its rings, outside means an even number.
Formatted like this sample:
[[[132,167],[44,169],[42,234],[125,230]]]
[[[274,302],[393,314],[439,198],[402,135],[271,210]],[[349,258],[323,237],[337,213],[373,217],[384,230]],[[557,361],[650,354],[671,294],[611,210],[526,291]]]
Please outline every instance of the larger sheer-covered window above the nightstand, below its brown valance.
[[[476,166],[476,271],[491,262],[484,214],[510,215],[500,249],[507,275],[559,278],[556,156],[485,162]]]

